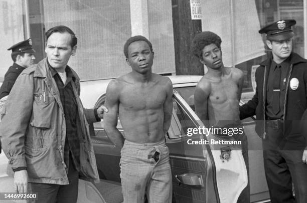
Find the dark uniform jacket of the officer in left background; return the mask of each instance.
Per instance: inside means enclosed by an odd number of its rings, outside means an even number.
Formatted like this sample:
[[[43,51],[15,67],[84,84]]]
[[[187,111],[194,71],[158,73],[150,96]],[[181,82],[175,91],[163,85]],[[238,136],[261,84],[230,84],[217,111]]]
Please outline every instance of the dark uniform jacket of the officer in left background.
[[[0,88],[0,99],[9,95],[18,76],[25,70],[24,67],[14,63],[5,75],[5,79]]]

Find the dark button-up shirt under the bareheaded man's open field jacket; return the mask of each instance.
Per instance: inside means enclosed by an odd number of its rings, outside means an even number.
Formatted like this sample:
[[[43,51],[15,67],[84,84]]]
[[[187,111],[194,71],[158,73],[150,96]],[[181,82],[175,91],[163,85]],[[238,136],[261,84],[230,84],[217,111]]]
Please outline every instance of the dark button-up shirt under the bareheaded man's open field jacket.
[[[77,134],[77,119],[78,116],[78,107],[77,102],[74,96],[74,92],[71,86],[71,81],[75,80],[73,73],[70,68],[66,66],[66,82],[63,84],[63,81],[57,71],[50,66],[51,74],[57,84],[57,87],[60,92],[60,98],[62,102],[62,106],[64,108],[64,117],[66,122],[66,139],[64,146],[64,161],[67,166],[66,170],[68,171],[69,166],[69,158],[72,158],[75,169],[80,170],[80,146],[79,146],[79,138]],[[70,153],[69,153],[70,152]],[[72,155],[72,157],[69,157]]]

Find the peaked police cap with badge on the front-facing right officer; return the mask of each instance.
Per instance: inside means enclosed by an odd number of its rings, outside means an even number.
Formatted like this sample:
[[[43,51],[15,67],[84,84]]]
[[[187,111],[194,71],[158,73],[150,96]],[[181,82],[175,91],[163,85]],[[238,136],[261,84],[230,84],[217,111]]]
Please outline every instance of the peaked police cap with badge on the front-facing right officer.
[[[280,20],[265,26],[259,30],[259,33],[265,33],[268,40],[287,40],[294,36],[291,26],[294,26],[295,24],[295,20]]]

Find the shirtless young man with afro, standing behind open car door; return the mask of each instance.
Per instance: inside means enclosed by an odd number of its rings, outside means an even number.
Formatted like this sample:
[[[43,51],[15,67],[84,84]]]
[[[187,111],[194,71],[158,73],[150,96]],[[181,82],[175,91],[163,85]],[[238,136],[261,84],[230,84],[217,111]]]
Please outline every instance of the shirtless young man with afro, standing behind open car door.
[[[243,72],[225,67],[222,60],[221,38],[212,32],[202,32],[193,40],[193,53],[207,66],[208,72],[195,88],[196,114],[208,127],[241,127],[239,101]],[[248,171],[247,140],[244,134],[233,135],[242,141],[242,153]],[[249,184],[238,202],[249,201]]]

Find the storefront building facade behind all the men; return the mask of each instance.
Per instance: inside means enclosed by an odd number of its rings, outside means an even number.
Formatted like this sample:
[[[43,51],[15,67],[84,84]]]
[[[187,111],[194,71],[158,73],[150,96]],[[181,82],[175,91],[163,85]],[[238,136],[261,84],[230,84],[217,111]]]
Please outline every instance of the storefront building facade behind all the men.
[[[264,36],[258,34],[264,25],[295,19],[294,52],[307,57],[307,3],[303,0],[0,0],[0,77],[12,65],[7,48],[31,37],[38,62],[45,57],[44,33],[56,25],[66,25],[77,35],[77,54],[69,65],[82,80],[114,78],[129,72],[123,44],[134,35],[152,42],[153,71],[174,75],[176,66],[182,64],[175,61],[178,49],[189,47],[189,43],[181,43],[183,39],[175,39],[175,24],[184,23],[174,20],[172,14],[180,1],[200,5],[198,32],[212,31],[221,36],[224,63],[243,70],[245,92],[252,92],[252,73],[268,52]],[[185,18],[191,18],[191,13]],[[181,32],[189,25],[186,28]]]

